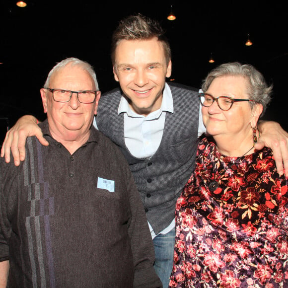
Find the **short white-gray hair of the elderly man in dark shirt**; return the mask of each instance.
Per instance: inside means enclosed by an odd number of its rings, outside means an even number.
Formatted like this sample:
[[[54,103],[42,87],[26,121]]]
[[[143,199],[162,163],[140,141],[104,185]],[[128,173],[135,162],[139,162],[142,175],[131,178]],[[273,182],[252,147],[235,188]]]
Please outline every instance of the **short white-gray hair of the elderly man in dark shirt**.
[[[87,71],[95,83],[96,91],[99,90],[98,81],[96,78],[96,73],[95,73],[93,67],[87,62],[82,61],[78,58],[73,58],[73,57],[62,60],[61,62],[59,62],[57,65],[55,65],[52,68],[52,70],[48,74],[48,77],[47,77],[46,82],[44,84],[44,88],[49,87],[50,79],[51,79],[51,76],[53,75],[53,73],[60,71],[61,69],[63,69],[67,65],[71,65],[72,67],[78,66],[78,67],[82,68],[83,70]]]

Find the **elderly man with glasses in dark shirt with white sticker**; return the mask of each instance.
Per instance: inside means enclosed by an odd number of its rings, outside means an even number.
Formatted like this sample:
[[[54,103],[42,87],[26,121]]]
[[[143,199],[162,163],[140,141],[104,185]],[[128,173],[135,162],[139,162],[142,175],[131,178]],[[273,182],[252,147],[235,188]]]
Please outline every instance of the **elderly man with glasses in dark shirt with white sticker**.
[[[41,90],[49,146],[0,159],[0,287],[161,287],[129,165],[92,126],[92,67],[66,59]]]

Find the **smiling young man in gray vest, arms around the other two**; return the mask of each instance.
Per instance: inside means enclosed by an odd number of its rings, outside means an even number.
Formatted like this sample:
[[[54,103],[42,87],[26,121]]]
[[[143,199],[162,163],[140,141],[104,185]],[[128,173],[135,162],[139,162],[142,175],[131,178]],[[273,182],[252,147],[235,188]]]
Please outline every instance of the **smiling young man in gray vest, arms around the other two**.
[[[166,82],[171,74],[170,46],[159,23],[148,17],[122,19],[113,33],[111,52],[120,88],[101,96],[94,125],[120,147],[130,165],[153,238],[154,268],[168,287],[175,204],[193,171],[198,136],[205,131],[198,89]],[[10,146],[16,164],[24,159],[27,136],[37,135],[47,144],[35,121],[26,116],[8,132],[1,149],[6,161]],[[265,143],[274,150],[283,173],[283,159],[288,167],[288,134],[278,124],[266,127]]]

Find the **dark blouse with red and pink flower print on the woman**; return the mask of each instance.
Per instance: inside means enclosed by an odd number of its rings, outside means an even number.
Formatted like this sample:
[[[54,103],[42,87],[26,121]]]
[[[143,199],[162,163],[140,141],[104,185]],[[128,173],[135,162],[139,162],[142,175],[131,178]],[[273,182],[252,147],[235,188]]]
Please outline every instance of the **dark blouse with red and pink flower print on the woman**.
[[[287,190],[269,148],[227,157],[203,139],[176,204],[170,287],[288,287]]]

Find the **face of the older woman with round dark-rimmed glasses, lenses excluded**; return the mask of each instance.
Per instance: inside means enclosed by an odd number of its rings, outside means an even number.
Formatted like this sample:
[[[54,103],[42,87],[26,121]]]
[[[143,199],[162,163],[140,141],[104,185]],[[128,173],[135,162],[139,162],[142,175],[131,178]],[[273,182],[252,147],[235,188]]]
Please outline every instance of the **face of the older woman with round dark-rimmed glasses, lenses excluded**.
[[[249,99],[246,92],[246,79],[242,76],[220,76],[215,78],[206,91],[208,94],[217,98],[219,96],[228,96],[237,99]],[[207,132],[214,138],[225,136],[226,139],[233,139],[240,136],[245,138],[249,133],[252,134],[252,128],[256,126],[261,114],[255,113],[256,106],[248,101],[234,102],[230,110],[221,110],[216,101],[210,107],[202,107],[203,122]],[[261,110],[262,111],[262,110]],[[230,138],[231,137],[231,138]]]

